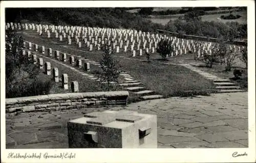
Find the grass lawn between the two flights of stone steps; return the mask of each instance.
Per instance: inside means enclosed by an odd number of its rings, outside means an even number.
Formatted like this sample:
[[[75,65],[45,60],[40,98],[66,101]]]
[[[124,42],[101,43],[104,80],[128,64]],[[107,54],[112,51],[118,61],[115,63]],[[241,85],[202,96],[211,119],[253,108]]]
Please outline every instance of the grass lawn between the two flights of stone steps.
[[[122,69],[165,97],[181,96],[186,91],[214,89],[212,82],[197,73],[178,65],[161,64],[156,61],[144,62],[118,58]],[[200,79],[200,80],[198,80]]]

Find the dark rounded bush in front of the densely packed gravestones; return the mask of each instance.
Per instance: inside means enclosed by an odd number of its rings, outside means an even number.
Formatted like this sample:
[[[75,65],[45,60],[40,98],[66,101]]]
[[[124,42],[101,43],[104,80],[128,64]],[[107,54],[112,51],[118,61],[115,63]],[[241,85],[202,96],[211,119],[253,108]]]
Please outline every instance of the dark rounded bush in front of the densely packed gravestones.
[[[157,53],[163,60],[167,60],[167,55],[173,52],[173,47],[168,40],[162,39],[157,44]]]

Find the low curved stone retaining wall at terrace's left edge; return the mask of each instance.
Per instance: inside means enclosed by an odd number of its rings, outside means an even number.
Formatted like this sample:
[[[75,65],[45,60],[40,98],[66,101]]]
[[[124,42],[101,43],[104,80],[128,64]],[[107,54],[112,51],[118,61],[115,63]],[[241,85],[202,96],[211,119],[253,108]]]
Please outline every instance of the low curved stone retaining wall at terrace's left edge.
[[[79,92],[6,99],[6,113],[127,105],[128,91]]]

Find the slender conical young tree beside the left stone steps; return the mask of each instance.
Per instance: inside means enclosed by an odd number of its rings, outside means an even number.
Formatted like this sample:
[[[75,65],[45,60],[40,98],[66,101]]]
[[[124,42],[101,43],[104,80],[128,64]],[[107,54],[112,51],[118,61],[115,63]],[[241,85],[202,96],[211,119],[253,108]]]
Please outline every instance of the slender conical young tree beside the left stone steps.
[[[105,44],[103,52],[103,58],[100,61],[103,73],[100,74],[99,80],[101,83],[103,83],[103,86],[106,86],[107,90],[110,91],[118,84],[118,77],[120,74],[118,70],[119,65],[118,62],[111,56],[110,46]]]

